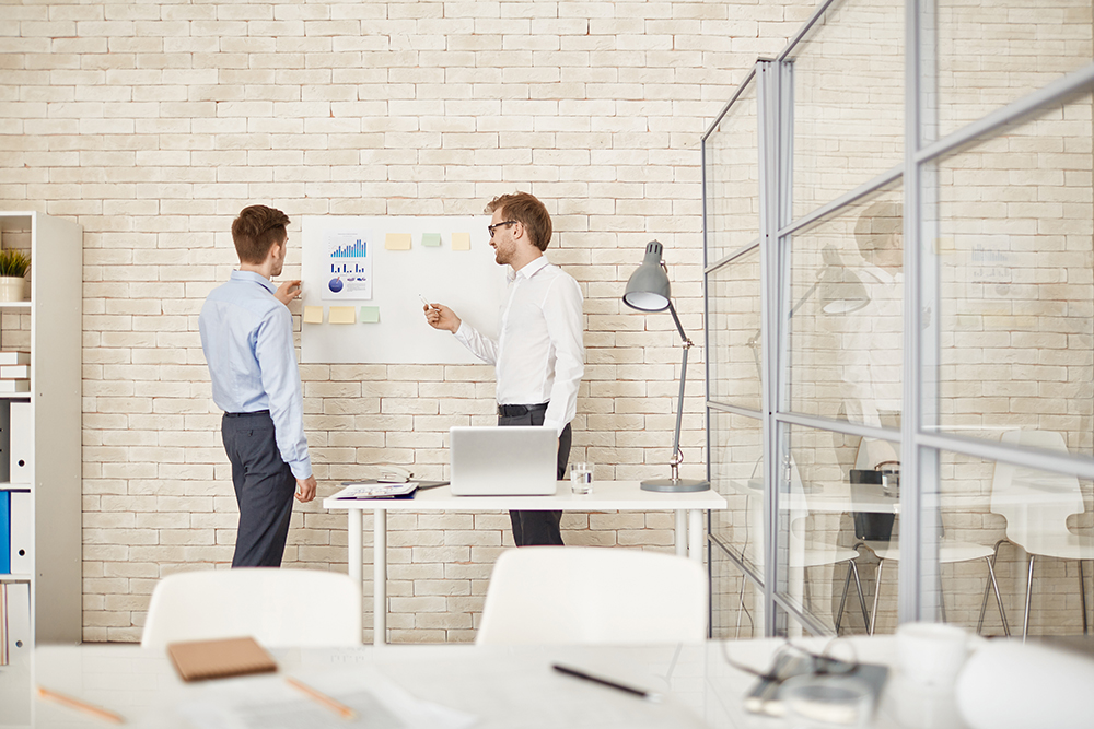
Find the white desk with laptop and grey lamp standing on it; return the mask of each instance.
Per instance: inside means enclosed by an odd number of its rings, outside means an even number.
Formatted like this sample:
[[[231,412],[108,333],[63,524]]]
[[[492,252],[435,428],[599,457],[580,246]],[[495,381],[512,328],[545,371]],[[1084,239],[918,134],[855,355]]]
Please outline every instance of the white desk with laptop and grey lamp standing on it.
[[[373,643],[387,640],[388,512],[676,512],[676,553],[702,563],[702,512],[724,509],[714,491],[672,494],[642,491],[638,481],[594,481],[593,493],[574,496],[569,481],[554,496],[453,496],[449,486],[427,489],[414,498],[323,499],[324,508],[345,510],[349,519],[349,576],[364,577],[364,512],[373,513]],[[362,585],[363,588],[363,585]]]

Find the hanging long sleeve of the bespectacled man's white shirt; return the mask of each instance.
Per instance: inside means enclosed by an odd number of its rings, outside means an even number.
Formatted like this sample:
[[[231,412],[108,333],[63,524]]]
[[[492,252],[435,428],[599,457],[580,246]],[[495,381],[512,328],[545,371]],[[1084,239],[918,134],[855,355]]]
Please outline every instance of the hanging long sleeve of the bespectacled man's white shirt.
[[[578,412],[578,387],[585,374],[582,303],[581,287],[570,277],[559,277],[543,302],[555,354],[555,381],[544,427],[554,427],[559,435]]]

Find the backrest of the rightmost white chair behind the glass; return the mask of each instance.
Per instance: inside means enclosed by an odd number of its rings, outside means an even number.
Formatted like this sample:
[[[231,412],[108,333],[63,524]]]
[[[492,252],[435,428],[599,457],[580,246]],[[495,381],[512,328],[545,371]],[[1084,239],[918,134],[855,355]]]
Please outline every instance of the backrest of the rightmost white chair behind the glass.
[[[1008,431],[1002,443],[1067,452],[1052,431]],[[1068,536],[1068,517],[1083,510],[1079,479],[999,461],[991,480],[991,510],[1006,518],[1006,538],[1026,548]]]

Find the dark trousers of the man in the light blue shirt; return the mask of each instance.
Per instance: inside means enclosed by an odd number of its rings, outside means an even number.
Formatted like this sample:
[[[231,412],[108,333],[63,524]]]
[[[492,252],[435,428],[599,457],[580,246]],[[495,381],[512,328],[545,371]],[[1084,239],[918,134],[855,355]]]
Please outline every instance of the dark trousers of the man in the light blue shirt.
[[[233,567],[280,567],[296,478],[281,460],[269,411],[224,413],[224,450],[240,505]]]

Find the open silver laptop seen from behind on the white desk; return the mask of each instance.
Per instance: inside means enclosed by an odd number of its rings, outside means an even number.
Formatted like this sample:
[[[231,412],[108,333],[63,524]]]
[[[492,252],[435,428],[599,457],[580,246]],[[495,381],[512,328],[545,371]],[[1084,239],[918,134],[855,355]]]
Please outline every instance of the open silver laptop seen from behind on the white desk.
[[[454,496],[547,496],[555,493],[558,434],[534,425],[449,428]]]

